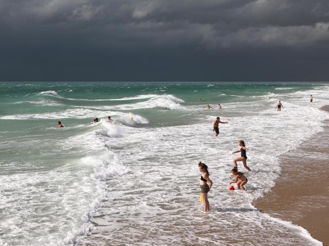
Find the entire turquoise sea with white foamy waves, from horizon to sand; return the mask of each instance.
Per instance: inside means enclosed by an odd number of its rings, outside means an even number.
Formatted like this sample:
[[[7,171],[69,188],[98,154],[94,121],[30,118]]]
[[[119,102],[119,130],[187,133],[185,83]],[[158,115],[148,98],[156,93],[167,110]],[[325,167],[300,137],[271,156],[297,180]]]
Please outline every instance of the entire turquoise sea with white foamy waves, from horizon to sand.
[[[322,130],[328,92],[312,84],[0,83],[0,245],[321,245],[251,203],[275,185],[279,156]],[[218,138],[216,116],[229,121]],[[253,172],[246,192],[230,192],[240,139]],[[200,160],[214,182],[208,214],[198,200]]]

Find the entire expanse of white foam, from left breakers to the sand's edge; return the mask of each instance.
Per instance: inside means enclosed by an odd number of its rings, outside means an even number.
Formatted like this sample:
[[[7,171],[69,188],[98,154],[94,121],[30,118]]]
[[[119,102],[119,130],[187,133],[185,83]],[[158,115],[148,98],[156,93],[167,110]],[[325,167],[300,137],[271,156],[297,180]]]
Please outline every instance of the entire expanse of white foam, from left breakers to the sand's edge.
[[[32,156],[33,161],[24,163],[29,172],[5,174],[0,180],[0,208],[6,211],[0,218],[6,225],[1,227],[5,230],[3,242],[242,245],[247,238],[255,245],[320,245],[303,228],[262,214],[251,205],[275,184],[281,170],[280,154],[321,131],[321,121],[328,115],[319,108],[328,104],[328,98],[327,91],[318,92],[319,103],[314,105],[303,100],[310,91],[278,94],[285,106],[280,113],[272,107],[271,97],[276,97],[272,95],[252,107],[240,101],[226,104],[227,111],[221,117],[229,124],[220,126],[218,138],[212,132],[214,111],[201,115],[194,109],[198,106],[186,107],[199,119],[196,124],[153,128],[132,128],[131,117],[136,120],[134,124],[148,120],[115,111],[76,108],[53,114],[26,114],[24,117],[31,118],[118,117],[115,124],[103,118],[95,126],[74,128],[81,130],[74,136],[57,131],[57,135],[41,142],[33,138],[12,146],[14,153],[30,146],[26,156]],[[181,103],[175,98],[160,99]],[[239,156],[231,153],[239,148],[237,141],[241,138],[250,148],[248,166],[253,172],[246,173],[246,192],[229,192],[232,159]],[[43,166],[35,168],[33,165],[42,162],[38,158],[44,154],[48,156]],[[207,163],[214,181],[209,193],[212,212],[207,215],[199,212],[199,160]],[[11,163],[1,161],[2,167],[11,170]],[[54,163],[58,167],[50,170]],[[239,167],[245,171],[241,163]],[[86,238],[93,224],[98,234]],[[214,232],[209,233],[209,228]],[[236,228],[244,232],[243,238],[232,233]]]

